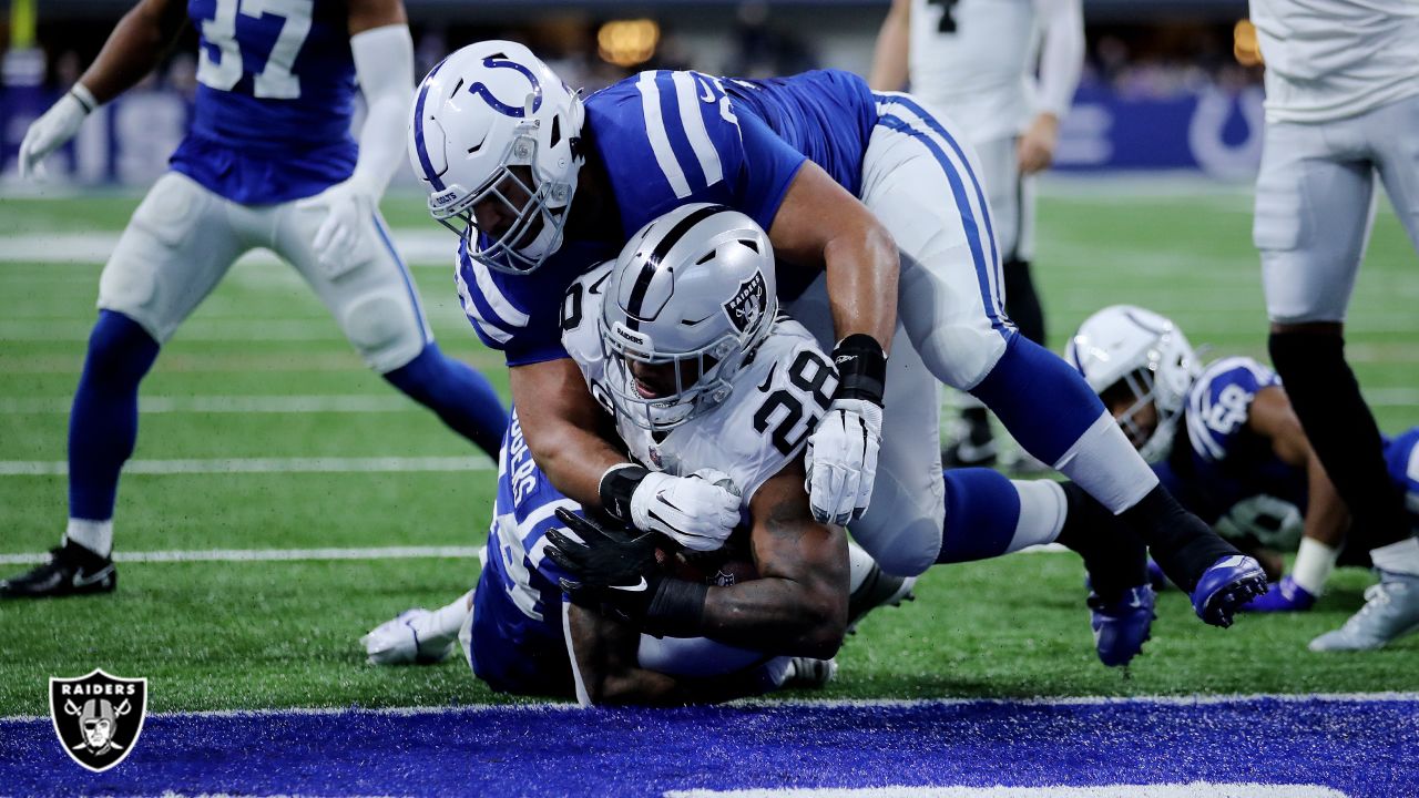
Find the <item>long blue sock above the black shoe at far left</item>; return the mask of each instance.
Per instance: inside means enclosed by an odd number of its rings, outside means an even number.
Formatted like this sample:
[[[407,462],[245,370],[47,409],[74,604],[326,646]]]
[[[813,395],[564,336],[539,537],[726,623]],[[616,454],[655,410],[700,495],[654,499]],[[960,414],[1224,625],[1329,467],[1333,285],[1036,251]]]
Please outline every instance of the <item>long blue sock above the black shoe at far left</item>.
[[[138,443],[138,383],[158,341],[133,319],[99,311],[70,412],[70,517],[114,517],[118,474]]]

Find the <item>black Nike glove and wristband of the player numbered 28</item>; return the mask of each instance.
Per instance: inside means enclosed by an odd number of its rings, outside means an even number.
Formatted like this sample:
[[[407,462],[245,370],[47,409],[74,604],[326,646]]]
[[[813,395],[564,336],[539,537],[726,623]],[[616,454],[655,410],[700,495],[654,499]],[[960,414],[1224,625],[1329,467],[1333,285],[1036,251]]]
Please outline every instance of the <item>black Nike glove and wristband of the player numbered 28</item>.
[[[656,567],[657,532],[607,528],[565,508],[556,517],[582,538],[546,532],[546,555],[570,575],[561,585],[575,603],[610,612],[653,635],[698,629],[708,588],[671,579]]]

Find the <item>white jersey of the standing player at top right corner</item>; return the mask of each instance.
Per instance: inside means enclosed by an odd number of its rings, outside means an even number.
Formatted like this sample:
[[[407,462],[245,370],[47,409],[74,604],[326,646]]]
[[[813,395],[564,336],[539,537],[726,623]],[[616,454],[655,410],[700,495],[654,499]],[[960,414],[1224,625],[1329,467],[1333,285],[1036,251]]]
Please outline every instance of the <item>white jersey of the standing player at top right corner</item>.
[[[1416,0],[1252,0],[1252,23],[1267,121],[1327,122],[1419,94]]]

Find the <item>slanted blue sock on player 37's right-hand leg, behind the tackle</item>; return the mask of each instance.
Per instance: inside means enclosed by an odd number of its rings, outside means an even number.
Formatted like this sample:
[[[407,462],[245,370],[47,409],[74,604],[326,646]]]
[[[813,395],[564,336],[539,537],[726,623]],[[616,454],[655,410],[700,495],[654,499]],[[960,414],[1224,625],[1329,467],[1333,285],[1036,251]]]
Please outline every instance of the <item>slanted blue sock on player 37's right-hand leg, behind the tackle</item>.
[[[467,364],[446,358],[437,344],[424,346],[419,356],[385,375],[394,388],[429,408],[454,432],[498,459],[508,412],[488,378]]]

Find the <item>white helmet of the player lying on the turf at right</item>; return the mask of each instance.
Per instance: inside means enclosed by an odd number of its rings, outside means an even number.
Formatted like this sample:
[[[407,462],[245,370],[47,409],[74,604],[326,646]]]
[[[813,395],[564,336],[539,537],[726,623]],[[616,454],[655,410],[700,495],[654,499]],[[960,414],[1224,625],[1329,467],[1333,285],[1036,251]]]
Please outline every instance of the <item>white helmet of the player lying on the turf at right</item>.
[[[1107,307],[1084,319],[1064,358],[1100,396],[1127,390],[1134,402],[1120,426],[1145,460],[1166,456],[1188,388],[1200,372],[1188,337],[1172,319],[1134,305]],[[1158,412],[1151,434],[1137,422],[1149,403]]]

